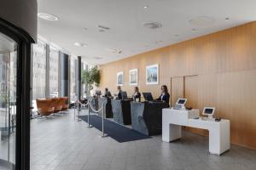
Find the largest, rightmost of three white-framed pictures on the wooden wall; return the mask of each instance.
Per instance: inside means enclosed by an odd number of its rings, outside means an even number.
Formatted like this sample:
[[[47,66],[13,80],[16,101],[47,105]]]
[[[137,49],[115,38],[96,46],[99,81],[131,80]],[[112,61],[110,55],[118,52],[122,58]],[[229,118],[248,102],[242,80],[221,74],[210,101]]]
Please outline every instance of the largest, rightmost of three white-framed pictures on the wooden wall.
[[[146,67],[146,84],[159,84],[159,65],[148,65]]]

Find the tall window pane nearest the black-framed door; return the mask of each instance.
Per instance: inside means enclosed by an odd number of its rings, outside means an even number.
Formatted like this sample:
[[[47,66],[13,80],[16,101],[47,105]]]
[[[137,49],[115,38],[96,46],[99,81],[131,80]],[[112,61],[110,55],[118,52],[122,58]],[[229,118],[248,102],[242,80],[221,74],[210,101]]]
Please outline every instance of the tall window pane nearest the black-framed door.
[[[38,40],[32,46],[32,99],[45,98],[46,44]]]

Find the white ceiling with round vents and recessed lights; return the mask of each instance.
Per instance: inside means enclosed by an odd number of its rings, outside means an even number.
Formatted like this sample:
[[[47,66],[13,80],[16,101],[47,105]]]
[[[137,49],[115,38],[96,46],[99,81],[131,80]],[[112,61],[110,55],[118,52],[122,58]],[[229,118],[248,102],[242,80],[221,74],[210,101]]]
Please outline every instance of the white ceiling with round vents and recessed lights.
[[[256,1],[38,0],[38,12],[59,18],[39,18],[40,36],[89,64],[101,65],[256,20]],[[149,29],[145,22],[161,27]]]

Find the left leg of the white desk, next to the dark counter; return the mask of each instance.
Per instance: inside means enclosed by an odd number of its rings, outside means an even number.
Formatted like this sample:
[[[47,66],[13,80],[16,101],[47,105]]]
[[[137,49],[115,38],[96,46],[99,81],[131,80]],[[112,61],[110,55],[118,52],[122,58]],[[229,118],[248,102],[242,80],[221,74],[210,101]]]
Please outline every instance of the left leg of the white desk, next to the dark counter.
[[[166,126],[163,126],[162,128],[162,140],[165,142],[171,142],[176,139],[181,139],[182,137],[182,131],[181,126],[179,125],[173,125],[173,124],[167,124]]]

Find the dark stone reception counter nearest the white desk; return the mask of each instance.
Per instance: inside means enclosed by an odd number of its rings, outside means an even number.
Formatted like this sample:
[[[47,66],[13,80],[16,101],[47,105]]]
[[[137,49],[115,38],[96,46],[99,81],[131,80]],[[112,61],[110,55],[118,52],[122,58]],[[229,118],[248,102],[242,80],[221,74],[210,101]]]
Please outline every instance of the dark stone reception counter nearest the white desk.
[[[168,104],[161,102],[131,102],[131,128],[148,136],[162,131],[162,109]]]

